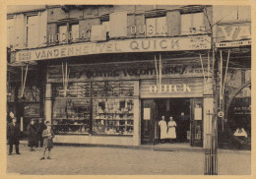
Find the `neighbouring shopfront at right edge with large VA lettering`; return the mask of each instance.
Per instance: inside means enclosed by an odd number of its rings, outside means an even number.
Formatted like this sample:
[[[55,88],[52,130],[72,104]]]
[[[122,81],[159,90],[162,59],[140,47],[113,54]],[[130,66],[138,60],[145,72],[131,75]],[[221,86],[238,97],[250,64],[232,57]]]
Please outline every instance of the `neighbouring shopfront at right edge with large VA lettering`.
[[[217,43],[224,59],[224,119],[220,142],[251,149],[251,24],[220,24]],[[224,142],[223,142],[224,143]]]

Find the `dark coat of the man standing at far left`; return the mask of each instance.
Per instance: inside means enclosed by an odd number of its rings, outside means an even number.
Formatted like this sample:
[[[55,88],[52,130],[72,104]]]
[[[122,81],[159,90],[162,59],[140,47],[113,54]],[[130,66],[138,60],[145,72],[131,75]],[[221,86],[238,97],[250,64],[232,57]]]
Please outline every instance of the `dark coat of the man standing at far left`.
[[[9,145],[19,145],[20,144],[21,131],[20,126],[13,123],[8,124],[7,126],[7,139]]]

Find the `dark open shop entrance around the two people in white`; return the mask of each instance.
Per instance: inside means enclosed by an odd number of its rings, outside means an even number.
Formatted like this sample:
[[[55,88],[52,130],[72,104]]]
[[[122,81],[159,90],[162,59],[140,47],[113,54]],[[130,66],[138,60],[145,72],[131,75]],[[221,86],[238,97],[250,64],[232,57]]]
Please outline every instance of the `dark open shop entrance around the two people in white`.
[[[203,147],[203,99],[158,98],[142,100],[142,144],[159,144],[161,116],[166,124],[171,116],[176,122],[175,143]],[[167,139],[165,140],[166,142]],[[162,142],[162,141],[161,141]]]

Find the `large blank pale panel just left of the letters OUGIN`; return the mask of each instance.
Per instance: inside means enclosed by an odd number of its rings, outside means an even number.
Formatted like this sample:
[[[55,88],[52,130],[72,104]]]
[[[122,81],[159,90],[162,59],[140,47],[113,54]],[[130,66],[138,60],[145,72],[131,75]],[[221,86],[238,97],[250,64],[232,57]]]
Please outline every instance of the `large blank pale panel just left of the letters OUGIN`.
[[[126,37],[127,36],[127,13],[116,12],[110,14],[110,31],[109,37]]]

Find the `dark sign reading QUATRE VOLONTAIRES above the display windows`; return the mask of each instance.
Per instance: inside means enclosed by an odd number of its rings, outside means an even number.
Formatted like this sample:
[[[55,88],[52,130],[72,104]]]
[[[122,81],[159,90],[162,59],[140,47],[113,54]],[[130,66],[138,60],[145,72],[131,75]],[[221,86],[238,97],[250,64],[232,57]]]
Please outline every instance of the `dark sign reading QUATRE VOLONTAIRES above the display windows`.
[[[194,64],[164,64],[162,78],[203,77],[199,63]],[[207,67],[205,67],[206,69]],[[104,80],[138,80],[156,79],[155,63],[123,63],[122,65],[77,65],[70,67],[70,82],[104,81]],[[50,66],[47,70],[47,82],[62,82],[61,66]],[[153,89],[154,90],[154,89]],[[174,89],[173,89],[174,90]]]

